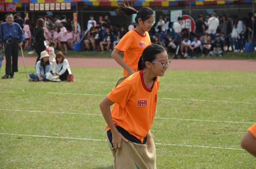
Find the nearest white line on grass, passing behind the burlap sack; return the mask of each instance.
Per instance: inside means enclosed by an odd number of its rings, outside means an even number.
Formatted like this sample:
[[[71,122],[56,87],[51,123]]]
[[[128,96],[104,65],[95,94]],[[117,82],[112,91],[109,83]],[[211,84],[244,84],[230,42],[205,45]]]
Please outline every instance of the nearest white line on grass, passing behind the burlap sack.
[[[0,133],[0,135],[17,135],[17,134]],[[107,140],[97,140],[97,139],[87,139],[87,138],[53,137],[53,136],[41,136],[41,135],[18,135],[18,136],[45,137],[45,138],[62,138],[62,139],[90,140],[90,141],[107,141]],[[155,143],[155,144],[156,145],[163,145],[163,146],[186,146],[186,147],[200,147],[200,148],[210,148],[210,149],[229,149],[229,150],[243,150],[244,151],[244,149],[233,149],[233,148],[223,148],[223,147],[191,146],[191,145],[162,144],[162,143]]]

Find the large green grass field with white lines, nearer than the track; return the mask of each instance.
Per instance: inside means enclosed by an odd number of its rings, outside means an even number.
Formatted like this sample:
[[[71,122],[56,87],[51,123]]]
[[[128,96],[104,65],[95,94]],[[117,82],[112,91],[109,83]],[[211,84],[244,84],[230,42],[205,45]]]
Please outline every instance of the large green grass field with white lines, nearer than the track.
[[[99,103],[122,69],[71,69],[73,83],[29,82],[23,67],[0,80],[1,169],[113,169]],[[255,168],[240,146],[256,122],[255,72],[168,70],[158,97],[158,169]]]

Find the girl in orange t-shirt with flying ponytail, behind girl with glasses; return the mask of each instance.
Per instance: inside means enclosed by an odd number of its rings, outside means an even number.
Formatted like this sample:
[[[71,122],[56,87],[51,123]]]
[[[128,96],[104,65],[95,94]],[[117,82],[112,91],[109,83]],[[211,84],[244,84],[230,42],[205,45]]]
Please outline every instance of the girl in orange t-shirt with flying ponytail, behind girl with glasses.
[[[111,56],[116,62],[124,68],[123,76],[137,72],[137,65],[143,50],[151,44],[148,31],[154,25],[154,12],[148,7],[143,7],[137,12],[136,9],[129,6],[127,0],[118,4],[117,14],[122,13],[128,17],[131,14],[137,14],[135,29],[127,32],[120,42],[116,45]],[[124,60],[120,53],[124,52]]]

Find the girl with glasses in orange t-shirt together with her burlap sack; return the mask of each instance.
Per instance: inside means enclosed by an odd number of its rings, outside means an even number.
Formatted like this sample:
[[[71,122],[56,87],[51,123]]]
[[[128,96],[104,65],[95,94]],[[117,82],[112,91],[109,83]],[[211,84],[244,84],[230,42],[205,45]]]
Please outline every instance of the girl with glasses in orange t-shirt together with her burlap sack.
[[[156,169],[154,141],[149,129],[157,106],[158,76],[164,76],[170,63],[163,46],[147,46],[139,59],[138,72],[112,89],[100,103],[115,168]]]

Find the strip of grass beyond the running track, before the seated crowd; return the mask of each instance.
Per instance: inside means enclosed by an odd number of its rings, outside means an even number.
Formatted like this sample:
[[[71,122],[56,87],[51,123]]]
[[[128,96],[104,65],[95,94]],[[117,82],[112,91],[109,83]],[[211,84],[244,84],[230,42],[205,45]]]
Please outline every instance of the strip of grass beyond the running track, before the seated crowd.
[[[33,54],[28,54],[30,51],[24,50],[25,56],[37,56],[36,52],[34,51]],[[55,51],[57,53],[58,51]],[[21,55],[21,52],[19,51],[19,55]],[[170,57],[173,57],[174,53],[169,53]],[[123,57],[123,53],[121,53],[121,56]],[[204,56],[201,57],[202,54],[198,54],[197,59],[256,59],[255,53],[234,53],[234,52],[225,52],[221,57],[215,57],[215,56]],[[111,52],[75,52],[75,51],[68,51],[68,57],[111,57]],[[192,58],[190,58],[192,59]]]

